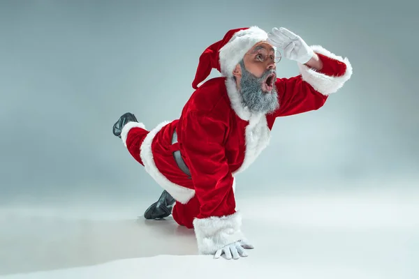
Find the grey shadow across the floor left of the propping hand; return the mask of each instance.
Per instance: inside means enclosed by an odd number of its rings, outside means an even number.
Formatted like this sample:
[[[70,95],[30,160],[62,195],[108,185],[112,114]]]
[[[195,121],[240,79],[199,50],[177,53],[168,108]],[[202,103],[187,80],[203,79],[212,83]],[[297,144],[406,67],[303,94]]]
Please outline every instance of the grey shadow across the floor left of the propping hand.
[[[197,255],[192,229],[165,220],[0,220],[0,275],[157,255]],[[4,229],[3,229],[4,228]]]

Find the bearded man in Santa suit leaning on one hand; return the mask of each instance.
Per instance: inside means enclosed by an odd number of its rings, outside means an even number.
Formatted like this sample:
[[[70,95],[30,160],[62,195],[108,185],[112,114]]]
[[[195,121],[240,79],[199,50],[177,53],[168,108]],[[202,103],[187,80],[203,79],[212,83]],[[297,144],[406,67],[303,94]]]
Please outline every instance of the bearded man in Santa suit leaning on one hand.
[[[276,76],[278,48],[297,62],[300,75]],[[198,87],[212,68],[222,77]],[[348,59],[318,45],[309,47],[288,29],[228,31],[200,56],[192,83],[196,91],[179,119],[146,130],[126,113],[113,127],[164,189],[145,218],[172,213],[179,225],[194,229],[200,254],[247,256],[244,249],[253,246],[241,232],[235,176],[268,145],[277,117],[318,110],[351,75]]]

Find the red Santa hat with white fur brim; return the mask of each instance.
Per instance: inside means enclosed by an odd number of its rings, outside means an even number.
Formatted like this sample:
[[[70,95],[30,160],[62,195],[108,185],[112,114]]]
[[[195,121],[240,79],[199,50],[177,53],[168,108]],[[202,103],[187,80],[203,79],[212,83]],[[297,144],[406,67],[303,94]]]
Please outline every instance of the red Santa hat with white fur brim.
[[[260,41],[267,40],[267,33],[259,27],[246,27],[232,29],[226,33],[222,40],[210,45],[201,54],[193,89],[198,89],[198,84],[210,75],[213,68],[226,77],[233,74],[233,70],[246,52]]]

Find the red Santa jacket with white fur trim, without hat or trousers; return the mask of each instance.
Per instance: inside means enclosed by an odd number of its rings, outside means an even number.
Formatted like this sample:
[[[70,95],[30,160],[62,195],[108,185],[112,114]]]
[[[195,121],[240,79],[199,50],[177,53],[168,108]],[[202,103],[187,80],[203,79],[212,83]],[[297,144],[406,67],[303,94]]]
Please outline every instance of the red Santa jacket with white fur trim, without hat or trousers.
[[[209,218],[236,216],[234,176],[268,145],[275,119],[318,110],[351,77],[347,59],[320,46],[312,48],[323,69],[316,72],[298,64],[300,75],[278,78],[279,109],[274,113],[251,114],[242,107],[235,83],[217,77],[192,94],[179,119],[161,123],[145,138],[140,160],[147,172],[178,202],[186,204],[198,197],[200,213],[194,225],[204,230],[197,236],[205,234],[205,227],[213,227],[207,223]],[[179,144],[172,144],[175,129]],[[192,179],[177,167],[174,150],[181,151]]]

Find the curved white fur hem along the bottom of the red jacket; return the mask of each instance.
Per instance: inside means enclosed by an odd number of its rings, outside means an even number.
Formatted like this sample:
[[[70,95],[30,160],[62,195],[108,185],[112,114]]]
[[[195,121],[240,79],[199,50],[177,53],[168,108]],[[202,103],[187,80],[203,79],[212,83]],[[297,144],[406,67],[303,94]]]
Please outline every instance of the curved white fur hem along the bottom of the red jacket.
[[[168,180],[166,176],[164,176],[159,169],[156,167],[156,164],[154,163],[153,158],[153,152],[152,152],[152,142],[156,134],[166,126],[168,121],[163,121],[160,123],[156,128],[151,130],[147,137],[145,137],[144,141],[142,142],[140,146],[140,157],[142,160],[142,163],[144,163],[144,167],[146,172],[152,176],[152,178],[159,183],[159,185],[168,191],[170,195],[172,195],[173,198],[175,198],[178,202],[182,204],[186,204],[189,202],[189,199],[191,199],[195,195],[195,190],[185,188],[183,186],[180,186],[176,183],[172,183],[172,181]]]

